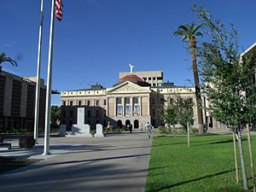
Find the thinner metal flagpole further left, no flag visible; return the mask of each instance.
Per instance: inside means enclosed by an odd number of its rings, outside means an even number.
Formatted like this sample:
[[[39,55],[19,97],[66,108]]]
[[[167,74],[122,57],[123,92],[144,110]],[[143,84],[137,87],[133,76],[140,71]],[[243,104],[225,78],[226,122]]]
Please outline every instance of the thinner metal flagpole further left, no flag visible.
[[[36,88],[36,102],[35,102],[35,122],[34,122],[34,139],[38,143],[38,117],[39,117],[39,101],[40,101],[40,71],[41,71],[41,45],[42,45],[42,32],[44,20],[44,0],[41,0],[41,20],[39,26],[39,40],[38,40],[38,72],[37,72],[37,88]]]

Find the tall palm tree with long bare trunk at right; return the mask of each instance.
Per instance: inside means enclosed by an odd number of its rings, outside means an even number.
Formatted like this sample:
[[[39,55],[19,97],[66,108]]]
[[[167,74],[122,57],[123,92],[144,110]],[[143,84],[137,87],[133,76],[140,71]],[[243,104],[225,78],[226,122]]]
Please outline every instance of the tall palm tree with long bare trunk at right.
[[[197,115],[198,115],[198,129],[199,133],[203,133],[203,117],[202,117],[202,109],[201,109],[201,91],[200,91],[200,84],[198,78],[198,71],[197,71],[197,64],[196,64],[196,37],[201,36],[202,33],[198,32],[198,30],[204,26],[201,24],[199,26],[195,26],[195,22],[192,22],[191,26],[188,24],[184,24],[178,26],[177,31],[173,33],[175,37],[182,36],[182,41],[186,41],[189,43],[189,50],[191,53],[192,64],[193,64],[193,73],[194,73],[194,80],[195,80],[195,97],[196,97],[196,106],[197,106]]]

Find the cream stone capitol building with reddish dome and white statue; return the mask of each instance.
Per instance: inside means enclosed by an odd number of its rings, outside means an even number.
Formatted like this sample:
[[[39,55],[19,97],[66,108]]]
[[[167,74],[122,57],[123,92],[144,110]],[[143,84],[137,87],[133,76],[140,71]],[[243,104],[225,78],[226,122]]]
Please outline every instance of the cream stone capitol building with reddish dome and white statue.
[[[96,124],[123,128],[150,122],[154,127],[164,125],[161,113],[175,94],[189,97],[195,103],[195,88],[177,86],[164,82],[161,71],[119,73],[119,80],[113,87],[104,88],[101,84],[91,85],[90,89],[66,90],[61,92],[61,124],[67,129],[77,123],[77,108],[84,108],[84,124]],[[194,106],[194,126],[197,126],[197,110]]]

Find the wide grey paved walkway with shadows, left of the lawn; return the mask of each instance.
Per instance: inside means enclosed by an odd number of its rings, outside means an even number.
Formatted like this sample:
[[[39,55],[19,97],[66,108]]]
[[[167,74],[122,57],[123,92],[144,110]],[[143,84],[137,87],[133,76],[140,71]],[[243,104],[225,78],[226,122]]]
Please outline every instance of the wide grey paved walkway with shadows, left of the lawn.
[[[42,158],[43,142],[41,138],[35,148],[0,151],[0,155]],[[1,192],[143,192],[145,189],[152,143],[146,133],[52,137],[50,143],[52,154],[45,160],[1,174]]]

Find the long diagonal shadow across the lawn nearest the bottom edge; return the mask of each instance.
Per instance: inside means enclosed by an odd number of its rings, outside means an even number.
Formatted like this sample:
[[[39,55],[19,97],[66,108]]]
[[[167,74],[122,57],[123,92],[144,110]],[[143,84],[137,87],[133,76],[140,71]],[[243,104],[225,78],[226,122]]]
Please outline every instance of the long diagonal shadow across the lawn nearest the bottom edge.
[[[218,172],[218,173],[215,173],[215,174],[207,175],[205,177],[198,177],[198,178],[190,179],[190,180],[183,181],[183,182],[180,182],[180,183],[174,183],[174,184],[166,185],[166,186],[160,187],[158,189],[149,189],[149,190],[147,190],[147,192],[157,192],[157,191],[161,191],[161,190],[164,190],[164,189],[172,189],[173,187],[177,187],[177,186],[180,186],[180,185],[183,185],[183,184],[186,184],[186,183],[192,183],[192,182],[204,179],[204,178],[215,177],[215,176],[218,176],[218,175],[222,175],[222,174],[225,174],[225,173],[228,173],[228,172],[234,172],[234,171],[235,171],[235,169],[231,169],[231,170],[224,171],[224,172]],[[229,191],[230,192],[236,192],[236,190],[234,190],[234,189],[225,190],[225,192],[229,192]]]

